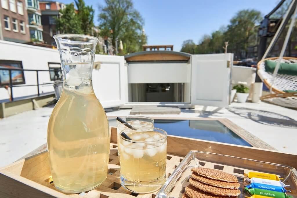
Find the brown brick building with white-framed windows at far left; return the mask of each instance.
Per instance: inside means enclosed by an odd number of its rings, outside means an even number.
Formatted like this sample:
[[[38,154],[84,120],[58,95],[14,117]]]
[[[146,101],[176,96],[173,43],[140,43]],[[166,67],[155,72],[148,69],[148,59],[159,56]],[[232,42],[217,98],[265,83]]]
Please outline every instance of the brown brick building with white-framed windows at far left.
[[[0,39],[19,43],[30,41],[25,0],[0,1]]]

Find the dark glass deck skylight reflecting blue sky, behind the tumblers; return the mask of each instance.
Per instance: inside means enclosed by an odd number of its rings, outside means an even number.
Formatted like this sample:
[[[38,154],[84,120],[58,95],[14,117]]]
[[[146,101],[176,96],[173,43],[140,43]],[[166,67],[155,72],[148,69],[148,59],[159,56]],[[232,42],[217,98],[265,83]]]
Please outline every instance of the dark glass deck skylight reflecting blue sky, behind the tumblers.
[[[165,130],[169,135],[252,146],[228,127],[214,120],[155,120],[154,127]]]

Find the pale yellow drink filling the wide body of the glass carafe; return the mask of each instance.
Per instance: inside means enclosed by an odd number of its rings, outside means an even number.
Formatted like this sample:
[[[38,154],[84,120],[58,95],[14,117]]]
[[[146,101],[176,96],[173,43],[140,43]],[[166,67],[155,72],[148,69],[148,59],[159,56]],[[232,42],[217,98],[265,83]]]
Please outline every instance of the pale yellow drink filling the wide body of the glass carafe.
[[[48,123],[50,169],[56,188],[91,190],[107,177],[108,119],[91,86],[64,85]]]

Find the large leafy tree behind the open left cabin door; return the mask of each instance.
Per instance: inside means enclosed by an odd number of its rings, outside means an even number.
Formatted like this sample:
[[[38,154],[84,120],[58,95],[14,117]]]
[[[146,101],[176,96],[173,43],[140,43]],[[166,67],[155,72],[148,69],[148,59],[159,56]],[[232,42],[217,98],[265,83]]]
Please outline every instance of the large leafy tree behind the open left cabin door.
[[[105,0],[105,6],[99,6],[99,11],[98,21],[102,37],[111,38],[114,48],[116,39],[122,40],[124,53],[141,50],[146,43],[144,21],[134,9],[131,0]]]

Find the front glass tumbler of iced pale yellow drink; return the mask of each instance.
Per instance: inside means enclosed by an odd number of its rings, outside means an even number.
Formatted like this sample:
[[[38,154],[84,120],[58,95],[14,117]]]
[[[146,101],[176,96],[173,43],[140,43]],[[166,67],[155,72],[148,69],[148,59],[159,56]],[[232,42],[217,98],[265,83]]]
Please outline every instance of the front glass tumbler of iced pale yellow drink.
[[[131,141],[120,139],[122,186],[137,193],[158,190],[165,183],[167,134],[125,132]]]

